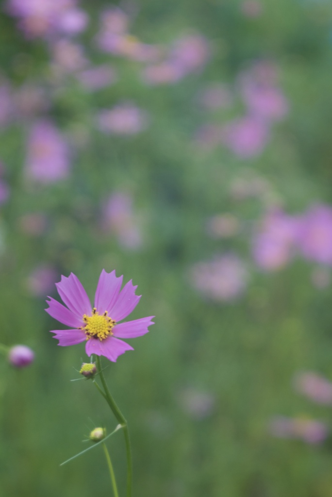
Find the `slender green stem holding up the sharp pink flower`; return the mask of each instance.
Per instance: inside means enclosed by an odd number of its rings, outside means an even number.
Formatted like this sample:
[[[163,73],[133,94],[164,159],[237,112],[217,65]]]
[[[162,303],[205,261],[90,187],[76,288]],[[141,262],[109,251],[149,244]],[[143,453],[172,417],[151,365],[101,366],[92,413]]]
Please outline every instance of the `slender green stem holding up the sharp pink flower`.
[[[97,359],[97,368],[100,376],[100,381],[103,386],[104,392],[100,392],[101,389],[100,387],[96,384],[99,392],[102,394],[104,399],[106,400],[107,404],[111,408],[114,416],[116,417],[118,423],[121,424],[123,428],[123,433],[125,437],[125,444],[126,444],[126,456],[127,456],[127,497],[132,496],[132,479],[133,479],[133,469],[132,469],[132,460],[131,460],[131,448],[130,448],[130,438],[129,438],[129,430],[128,430],[128,424],[127,421],[124,417],[124,415],[121,413],[120,409],[118,406],[115,404],[115,401],[113,397],[110,394],[110,391],[108,390],[107,383],[105,381],[104,373],[101,368],[101,361],[100,357],[96,356]]]

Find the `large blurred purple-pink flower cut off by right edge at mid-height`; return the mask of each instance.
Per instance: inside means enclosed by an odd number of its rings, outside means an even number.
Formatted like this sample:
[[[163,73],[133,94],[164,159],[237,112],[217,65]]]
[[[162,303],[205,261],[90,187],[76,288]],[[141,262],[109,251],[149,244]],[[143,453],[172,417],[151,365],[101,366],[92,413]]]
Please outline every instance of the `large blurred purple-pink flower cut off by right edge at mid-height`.
[[[309,260],[332,264],[332,208],[317,204],[301,218],[298,237],[301,253]]]

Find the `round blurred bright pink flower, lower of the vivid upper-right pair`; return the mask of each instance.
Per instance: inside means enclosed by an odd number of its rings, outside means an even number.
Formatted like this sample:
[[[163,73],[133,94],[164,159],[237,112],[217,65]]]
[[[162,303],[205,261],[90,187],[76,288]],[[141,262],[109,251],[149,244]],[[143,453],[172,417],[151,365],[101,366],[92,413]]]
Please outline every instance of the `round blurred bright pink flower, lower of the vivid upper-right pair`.
[[[241,159],[259,155],[269,139],[269,127],[252,116],[242,117],[226,124],[224,143]]]

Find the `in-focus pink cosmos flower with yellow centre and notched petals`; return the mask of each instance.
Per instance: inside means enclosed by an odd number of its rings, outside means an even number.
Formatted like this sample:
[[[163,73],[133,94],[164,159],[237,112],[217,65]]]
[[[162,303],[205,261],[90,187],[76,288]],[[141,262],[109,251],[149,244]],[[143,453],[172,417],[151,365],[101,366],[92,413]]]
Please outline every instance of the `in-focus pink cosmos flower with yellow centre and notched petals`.
[[[56,283],[59,295],[67,307],[48,297],[49,308],[46,312],[70,330],[52,330],[59,345],[76,345],[86,341],[85,351],[91,354],[104,355],[112,362],[116,362],[119,355],[126,350],[134,350],[128,343],[119,338],[135,338],[147,333],[148,327],[154,323],[154,316],[136,319],[118,324],[126,318],[137,306],[141,296],[135,295],[137,286],[132,280],[125,284],[120,291],[123,276],[116,277],[115,271],[107,273],[101,271],[94,298],[94,307],[82,283],[75,274],[67,278],[61,277]]]

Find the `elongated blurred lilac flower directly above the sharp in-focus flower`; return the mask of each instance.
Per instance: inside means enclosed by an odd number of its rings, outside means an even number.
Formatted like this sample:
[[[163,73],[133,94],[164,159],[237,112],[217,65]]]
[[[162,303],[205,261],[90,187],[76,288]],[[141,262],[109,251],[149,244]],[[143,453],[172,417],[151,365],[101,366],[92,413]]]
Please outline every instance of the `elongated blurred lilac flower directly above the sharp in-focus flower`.
[[[136,249],[142,246],[138,217],[133,211],[133,200],[128,193],[113,193],[104,205],[103,228],[113,232],[120,245]]]

